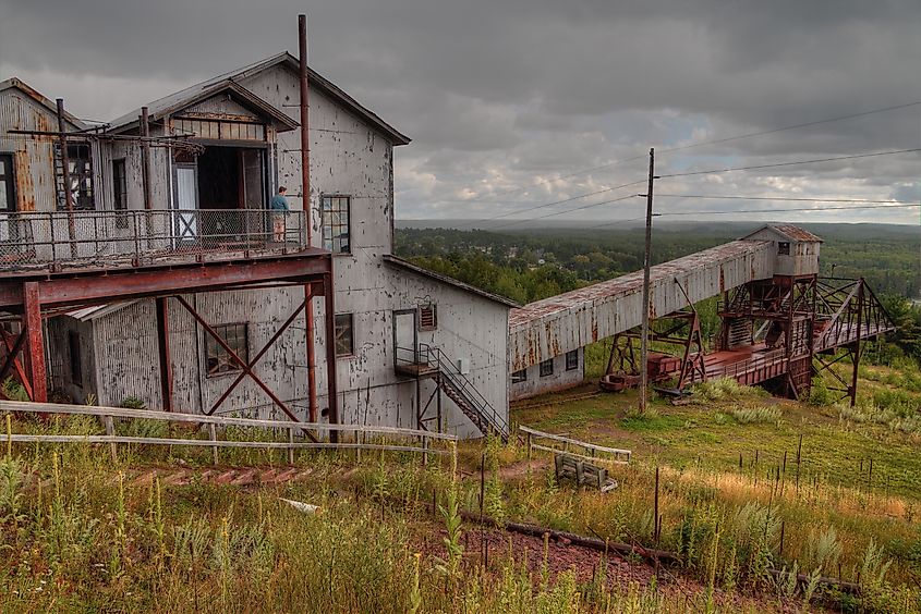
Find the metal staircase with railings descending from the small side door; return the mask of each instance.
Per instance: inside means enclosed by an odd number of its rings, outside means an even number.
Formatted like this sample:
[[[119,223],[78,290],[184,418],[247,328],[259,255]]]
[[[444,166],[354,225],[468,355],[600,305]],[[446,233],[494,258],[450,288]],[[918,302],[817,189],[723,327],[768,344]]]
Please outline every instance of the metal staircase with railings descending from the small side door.
[[[493,433],[502,442],[508,441],[508,420],[458,368],[441,348],[420,344],[417,349],[398,347],[396,370],[399,374],[416,379],[433,379],[438,389],[455,402],[481,433]]]

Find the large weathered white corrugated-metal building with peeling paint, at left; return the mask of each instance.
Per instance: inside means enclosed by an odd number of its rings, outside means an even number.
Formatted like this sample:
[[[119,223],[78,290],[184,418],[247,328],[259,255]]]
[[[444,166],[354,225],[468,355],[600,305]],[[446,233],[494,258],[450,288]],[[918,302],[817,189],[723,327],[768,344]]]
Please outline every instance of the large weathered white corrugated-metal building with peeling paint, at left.
[[[292,211],[306,211],[313,245],[334,254],[340,420],[422,425],[462,435],[485,430],[486,422],[476,414],[488,415],[486,421],[494,427],[507,425],[508,312],[516,305],[392,255],[393,149],[409,138],[323,76],[311,72],[310,84],[306,197],[301,189],[300,131],[294,130],[298,60],[286,52],[147,106],[149,135],[160,139],[149,149],[152,209],[170,210],[165,219],[179,229],[180,240],[219,236],[230,242],[242,226],[266,224],[269,198],[286,186]],[[32,99],[38,101],[28,105],[37,105],[39,112],[50,111],[47,100]],[[116,216],[144,210],[138,115],[114,120],[87,139],[90,189],[84,208]],[[14,119],[0,116],[0,134],[23,125]],[[80,127],[73,123],[68,131]],[[27,196],[19,181],[4,183],[2,187],[15,192],[16,206],[7,202],[9,211],[61,207],[54,194],[53,147],[43,147],[22,152],[0,139],[0,161],[12,156],[19,169],[25,159],[51,177],[35,182],[35,196]],[[284,232],[303,231],[292,226],[294,214]],[[132,229],[116,223],[108,231],[118,245],[119,233],[129,236]],[[240,356],[254,357],[304,300],[304,293],[286,287],[183,297]],[[169,299],[168,309],[172,406],[209,410],[241,371],[175,299]],[[314,309],[317,321],[324,321],[323,305]],[[94,395],[107,405],[133,397],[149,407],[162,406],[156,320],[149,299],[75,309],[49,319],[51,386],[80,402]],[[253,366],[302,417],[307,397],[304,328],[300,316],[293,330]],[[323,356],[330,340],[322,330],[315,336],[316,354]],[[318,360],[317,380],[326,378],[325,368]],[[323,408],[323,394],[318,401]],[[274,414],[272,402],[245,378],[217,413]]]

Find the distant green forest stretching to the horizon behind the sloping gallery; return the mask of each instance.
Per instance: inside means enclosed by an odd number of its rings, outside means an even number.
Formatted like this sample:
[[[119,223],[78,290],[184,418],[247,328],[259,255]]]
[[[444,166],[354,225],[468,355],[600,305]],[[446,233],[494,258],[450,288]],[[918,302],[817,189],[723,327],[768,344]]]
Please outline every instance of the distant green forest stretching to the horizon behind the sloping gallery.
[[[653,265],[732,241],[758,224],[671,224],[653,232]],[[878,295],[918,298],[921,232],[885,224],[805,224],[821,236],[821,274],[863,277]],[[489,232],[401,228],[396,253],[416,263],[530,303],[637,271],[643,266],[643,231],[534,229]]]

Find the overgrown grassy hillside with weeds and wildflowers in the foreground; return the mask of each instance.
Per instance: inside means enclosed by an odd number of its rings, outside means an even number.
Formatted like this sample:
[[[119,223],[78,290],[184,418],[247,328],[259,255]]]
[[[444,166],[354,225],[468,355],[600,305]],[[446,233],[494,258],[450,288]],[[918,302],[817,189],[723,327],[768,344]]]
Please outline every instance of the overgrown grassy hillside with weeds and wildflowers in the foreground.
[[[494,440],[443,450],[427,467],[401,454],[304,453],[288,467],[284,452],[235,450],[211,467],[207,449],[121,446],[112,462],[107,446],[11,445],[0,610],[921,611],[921,374],[862,374],[856,410],[824,392],[810,405],[726,382],[691,405],[656,400],[644,416],[635,392],[586,396],[591,385],[513,408],[517,422],[631,449],[607,494],[558,483],[548,456]],[[11,429],[100,432],[80,418]],[[681,563],[605,556],[463,511]],[[814,582],[798,586],[793,572]],[[820,576],[861,593],[824,589]]]

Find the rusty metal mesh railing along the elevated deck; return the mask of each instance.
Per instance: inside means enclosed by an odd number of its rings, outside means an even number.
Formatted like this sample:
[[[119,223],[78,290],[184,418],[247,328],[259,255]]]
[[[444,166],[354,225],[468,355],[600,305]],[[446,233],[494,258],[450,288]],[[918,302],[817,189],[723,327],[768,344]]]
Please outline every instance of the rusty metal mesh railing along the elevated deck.
[[[304,229],[303,211],[268,209],[0,212],[0,270],[300,251]]]

